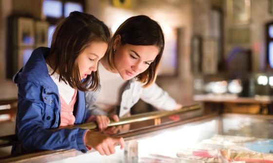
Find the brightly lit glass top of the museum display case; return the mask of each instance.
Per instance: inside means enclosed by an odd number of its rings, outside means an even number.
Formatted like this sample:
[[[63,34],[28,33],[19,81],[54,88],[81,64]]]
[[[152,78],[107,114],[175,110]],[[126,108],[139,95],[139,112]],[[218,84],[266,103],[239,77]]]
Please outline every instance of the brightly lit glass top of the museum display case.
[[[273,150],[273,140],[270,139],[273,138],[273,118],[234,115],[171,127],[131,139],[126,141],[124,150],[116,147],[117,154],[110,157],[92,152],[65,159],[65,163],[75,159],[86,162],[88,158],[103,163],[273,162],[270,153]]]

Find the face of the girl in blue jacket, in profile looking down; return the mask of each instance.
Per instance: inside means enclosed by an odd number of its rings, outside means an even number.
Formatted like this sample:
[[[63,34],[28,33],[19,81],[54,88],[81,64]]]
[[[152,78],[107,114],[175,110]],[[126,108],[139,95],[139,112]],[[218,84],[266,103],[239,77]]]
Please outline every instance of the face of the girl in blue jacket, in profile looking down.
[[[78,55],[78,70],[80,78],[84,79],[91,72],[96,72],[98,61],[103,57],[107,50],[107,43],[92,42],[84,51]]]

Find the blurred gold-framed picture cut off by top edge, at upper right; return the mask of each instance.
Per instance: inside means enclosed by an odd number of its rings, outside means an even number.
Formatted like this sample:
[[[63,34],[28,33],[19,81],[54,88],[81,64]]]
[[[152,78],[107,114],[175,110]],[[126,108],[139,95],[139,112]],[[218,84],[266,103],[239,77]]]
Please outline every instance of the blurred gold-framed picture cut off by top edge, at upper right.
[[[251,0],[227,0],[227,15],[232,23],[250,23]]]

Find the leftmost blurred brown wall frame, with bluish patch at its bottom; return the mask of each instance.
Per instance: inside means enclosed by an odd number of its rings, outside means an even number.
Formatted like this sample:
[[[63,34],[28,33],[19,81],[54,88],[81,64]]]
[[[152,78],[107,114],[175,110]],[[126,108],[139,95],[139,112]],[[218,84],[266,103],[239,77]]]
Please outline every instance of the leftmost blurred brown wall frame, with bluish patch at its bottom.
[[[17,44],[19,47],[34,46],[34,19],[19,17],[17,24]]]

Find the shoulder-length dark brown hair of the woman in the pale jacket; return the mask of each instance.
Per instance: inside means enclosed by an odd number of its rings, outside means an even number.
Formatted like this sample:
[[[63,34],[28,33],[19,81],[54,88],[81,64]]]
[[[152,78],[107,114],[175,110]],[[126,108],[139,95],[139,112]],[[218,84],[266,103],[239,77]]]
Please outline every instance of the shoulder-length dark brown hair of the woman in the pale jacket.
[[[117,35],[121,36],[121,45],[155,45],[158,47],[159,52],[156,55],[155,61],[151,63],[145,72],[142,72],[136,76],[137,81],[145,83],[143,87],[148,87],[156,80],[159,62],[164,50],[165,41],[160,25],[155,20],[144,15],[131,17],[125,20],[118,27],[117,31],[112,37],[108,50],[105,54],[111,69],[115,68],[113,45]]]

